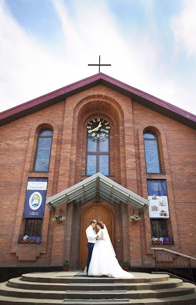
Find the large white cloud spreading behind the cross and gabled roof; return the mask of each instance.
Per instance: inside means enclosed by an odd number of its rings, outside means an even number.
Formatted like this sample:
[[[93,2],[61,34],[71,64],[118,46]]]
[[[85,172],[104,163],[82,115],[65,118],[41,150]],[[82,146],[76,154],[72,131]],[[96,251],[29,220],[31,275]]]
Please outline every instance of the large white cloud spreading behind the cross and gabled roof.
[[[102,67],[101,72],[196,112],[194,101],[190,102],[191,90],[185,105],[182,84],[162,59],[164,45],[156,40],[155,22],[145,30],[134,27],[123,33],[103,0],[73,0],[71,14],[66,1],[52,0],[52,4],[64,35],[58,54],[27,35],[0,1],[0,111],[98,73],[98,67],[88,64],[98,63],[101,55],[102,64],[112,65]],[[153,2],[150,4],[152,19]]]

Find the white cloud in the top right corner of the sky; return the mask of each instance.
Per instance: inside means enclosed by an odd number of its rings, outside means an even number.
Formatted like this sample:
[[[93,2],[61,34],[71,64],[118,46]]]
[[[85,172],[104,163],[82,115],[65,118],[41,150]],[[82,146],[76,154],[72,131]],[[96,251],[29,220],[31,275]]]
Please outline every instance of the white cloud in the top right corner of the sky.
[[[177,45],[185,48],[188,55],[196,54],[196,1],[183,2],[180,14],[171,18],[170,26],[173,29]]]

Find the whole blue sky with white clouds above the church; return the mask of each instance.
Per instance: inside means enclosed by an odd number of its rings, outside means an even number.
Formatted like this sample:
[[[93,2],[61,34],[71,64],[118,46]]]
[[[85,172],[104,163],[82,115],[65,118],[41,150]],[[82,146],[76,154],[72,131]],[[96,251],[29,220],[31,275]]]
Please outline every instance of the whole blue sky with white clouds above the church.
[[[0,0],[0,112],[101,72],[196,114],[196,0]]]

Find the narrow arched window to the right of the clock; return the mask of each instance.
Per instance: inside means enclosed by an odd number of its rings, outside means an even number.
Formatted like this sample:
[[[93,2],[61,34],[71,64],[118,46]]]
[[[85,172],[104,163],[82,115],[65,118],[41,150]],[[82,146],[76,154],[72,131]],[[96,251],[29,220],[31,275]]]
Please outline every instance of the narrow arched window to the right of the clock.
[[[144,133],[144,148],[147,173],[160,173],[157,136],[153,132]]]

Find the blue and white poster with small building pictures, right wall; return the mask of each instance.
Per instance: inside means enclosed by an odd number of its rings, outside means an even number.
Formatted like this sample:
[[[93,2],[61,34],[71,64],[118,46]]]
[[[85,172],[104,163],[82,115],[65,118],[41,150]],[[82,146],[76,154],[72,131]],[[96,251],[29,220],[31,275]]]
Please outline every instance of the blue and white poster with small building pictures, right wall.
[[[150,218],[170,218],[165,180],[147,180]]]

